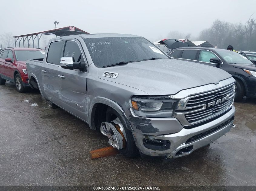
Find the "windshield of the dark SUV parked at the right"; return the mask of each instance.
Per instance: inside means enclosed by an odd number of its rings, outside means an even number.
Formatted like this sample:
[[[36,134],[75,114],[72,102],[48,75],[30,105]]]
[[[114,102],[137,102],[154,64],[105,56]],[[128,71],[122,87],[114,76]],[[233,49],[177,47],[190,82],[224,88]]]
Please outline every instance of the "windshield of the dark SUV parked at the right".
[[[245,58],[243,55],[236,53],[231,50],[216,51],[221,57],[229,64],[252,64],[250,60]]]

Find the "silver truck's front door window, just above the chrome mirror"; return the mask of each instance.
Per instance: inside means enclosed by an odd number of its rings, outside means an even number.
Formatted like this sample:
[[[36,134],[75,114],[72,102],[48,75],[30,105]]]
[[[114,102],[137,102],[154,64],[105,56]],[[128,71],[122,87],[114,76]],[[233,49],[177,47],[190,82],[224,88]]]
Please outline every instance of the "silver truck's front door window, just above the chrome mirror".
[[[75,41],[67,41],[63,57],[73,57],[74,62],[85,62],[81,50]]]

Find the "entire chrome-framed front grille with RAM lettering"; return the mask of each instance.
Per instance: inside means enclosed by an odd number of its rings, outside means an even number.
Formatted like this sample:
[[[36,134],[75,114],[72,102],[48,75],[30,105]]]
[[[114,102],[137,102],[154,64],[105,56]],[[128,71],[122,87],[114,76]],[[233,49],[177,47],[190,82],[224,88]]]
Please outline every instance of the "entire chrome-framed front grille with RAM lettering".
[[[234,84],[181,99],[175,117],[185,129],[224,115],[234,102]],[[190,128],[191,126],[191,128]]]

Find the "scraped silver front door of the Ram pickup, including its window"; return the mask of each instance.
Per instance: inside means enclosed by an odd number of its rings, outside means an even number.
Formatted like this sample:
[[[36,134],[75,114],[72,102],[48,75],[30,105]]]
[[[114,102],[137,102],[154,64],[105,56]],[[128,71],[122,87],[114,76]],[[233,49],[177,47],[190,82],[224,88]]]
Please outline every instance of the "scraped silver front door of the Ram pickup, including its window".
[[[75,40],[67,40],[63,51],[63,57],[73,57],[73,62],[85,62],[85,56],[80,43]],[[62,106],[81,119],[87,120],[87,72],[84,70],[73,70],[60,68],[58,71],[60,79],[60,93]]]

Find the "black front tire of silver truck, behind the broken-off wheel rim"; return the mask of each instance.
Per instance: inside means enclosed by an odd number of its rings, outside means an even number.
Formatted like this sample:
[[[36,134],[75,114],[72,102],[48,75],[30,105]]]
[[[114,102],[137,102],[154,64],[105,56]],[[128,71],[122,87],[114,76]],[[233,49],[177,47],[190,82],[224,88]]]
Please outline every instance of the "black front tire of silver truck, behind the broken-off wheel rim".
[[[124,125],[125,124],[124,120],[117,113],[117,111],[115,111],[111,107],[108,107],[106,110],[106,122],[111,122],[112,120],[116,119],[117,117],[121,121],[121,123],[124,127],[126,139],[127,139],[127,140],[125,140],[126,141],[125,148],[122,148],[121,150],[119,150],[119,152],[121,154],[124,154],[127,157],[135,157],[136,155],[139,154],[139,152],[135,145],[135,141],[134,141],[131,131],[128,130],[127,127]]]

